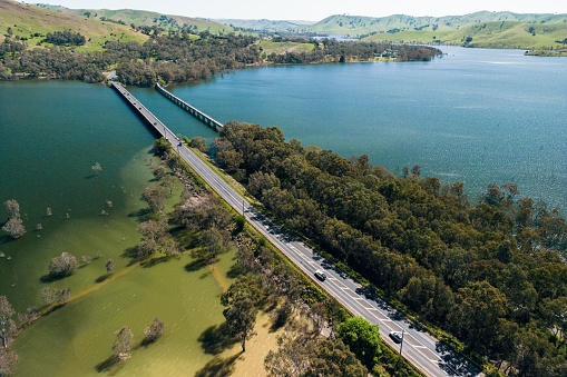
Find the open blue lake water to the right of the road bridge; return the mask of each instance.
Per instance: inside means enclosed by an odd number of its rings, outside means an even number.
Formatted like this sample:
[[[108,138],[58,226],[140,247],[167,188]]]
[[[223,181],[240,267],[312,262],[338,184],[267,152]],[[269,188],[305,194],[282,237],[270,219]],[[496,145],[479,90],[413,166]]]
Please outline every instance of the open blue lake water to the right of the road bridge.
[[[398,175],[420,165],[443,183],[463,181],[471,200],[514,181],[567,209],[567,59],[442,50],[431,62],[267,67],[168,89],[222,122],[277,126]],[[134,93],[176,132],[214,137],[153,89]]]

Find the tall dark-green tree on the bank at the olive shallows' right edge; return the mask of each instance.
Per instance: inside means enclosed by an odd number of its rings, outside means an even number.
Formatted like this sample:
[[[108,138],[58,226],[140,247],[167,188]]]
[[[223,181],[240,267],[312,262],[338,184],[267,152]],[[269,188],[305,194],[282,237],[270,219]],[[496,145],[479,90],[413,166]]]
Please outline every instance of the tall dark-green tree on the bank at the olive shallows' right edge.
[[[232,335],[238,336],[241,339],[243,353],[246,351],[246,340],[256,335],[254,331],[256,314],[257,308],[248,298],[235,300],[228,308],[223,310],[223,316],[226,318],[226,325],[228,325]]]

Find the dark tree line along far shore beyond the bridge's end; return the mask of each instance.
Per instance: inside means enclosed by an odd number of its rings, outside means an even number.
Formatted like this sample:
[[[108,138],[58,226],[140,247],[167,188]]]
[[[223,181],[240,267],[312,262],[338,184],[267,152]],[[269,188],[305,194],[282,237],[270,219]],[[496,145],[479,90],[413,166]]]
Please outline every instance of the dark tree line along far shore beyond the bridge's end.
[[[311,52],[272,53],[265,59],[253,36],[229,33],[214,36],[190,29],[160,34],[155,29],[144,43],[107,41],[104,51],[80,52],[65,46],[81,46],[85,37],[63,32],[47,33],[50,48],[33,48],[6,38],[0,43],[0,80],[18,78],[74,79],[100,82],[104,71],[116,68],[121,82],[153,86],[155,82],[188,82],[205,80],[215,75],[266,63],[306,63],[349,60],[370,60],[384,51],[395,50],[399,60],[430,60],[441,53],[437,49],[417,46],[392,46],[375,42],[338,42],[325,39]]]

